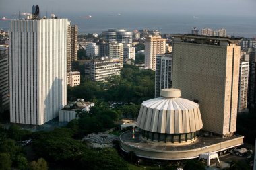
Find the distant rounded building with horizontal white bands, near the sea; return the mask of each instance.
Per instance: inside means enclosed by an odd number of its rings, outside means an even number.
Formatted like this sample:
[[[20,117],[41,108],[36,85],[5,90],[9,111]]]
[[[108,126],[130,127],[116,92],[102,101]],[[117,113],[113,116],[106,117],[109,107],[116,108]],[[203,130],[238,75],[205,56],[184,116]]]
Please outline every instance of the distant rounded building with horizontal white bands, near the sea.
[[[133,43],[133,33],[127,32],[124,29],[108,29],[108,31],[102,32],[103,40],[108,42],[117,41],[123,44]]]

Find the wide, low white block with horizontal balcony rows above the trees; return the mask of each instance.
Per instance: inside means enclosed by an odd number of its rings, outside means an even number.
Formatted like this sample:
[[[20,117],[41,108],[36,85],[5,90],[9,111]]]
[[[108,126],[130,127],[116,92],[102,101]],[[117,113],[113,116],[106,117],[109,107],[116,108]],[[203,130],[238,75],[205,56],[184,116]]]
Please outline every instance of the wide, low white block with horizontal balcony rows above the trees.
[[[119,58],[91,60],[85,64],[86,77],[92,81],[106,81],[108,77],[120,75],[121,63]]]

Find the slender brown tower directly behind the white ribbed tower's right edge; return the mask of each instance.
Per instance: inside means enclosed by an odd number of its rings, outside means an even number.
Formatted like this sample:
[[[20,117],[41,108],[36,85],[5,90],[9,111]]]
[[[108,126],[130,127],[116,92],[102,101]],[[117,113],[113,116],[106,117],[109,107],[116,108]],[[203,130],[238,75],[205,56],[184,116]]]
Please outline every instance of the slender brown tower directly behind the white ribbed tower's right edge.
[[[72,63],[77,61],[77,35],[78,27],[77,25],[70,25],[67,28],[67,71],[71,71]]]

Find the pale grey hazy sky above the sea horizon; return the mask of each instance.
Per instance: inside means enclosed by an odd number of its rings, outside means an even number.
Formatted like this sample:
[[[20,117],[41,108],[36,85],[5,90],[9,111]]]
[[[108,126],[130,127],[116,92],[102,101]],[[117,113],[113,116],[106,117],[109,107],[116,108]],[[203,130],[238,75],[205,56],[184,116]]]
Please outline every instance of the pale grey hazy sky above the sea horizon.
[[[31,12],[51,13],[162,13],[179,15],[242,15],[256,17],[255,0],[0,0],[0,17]]]

